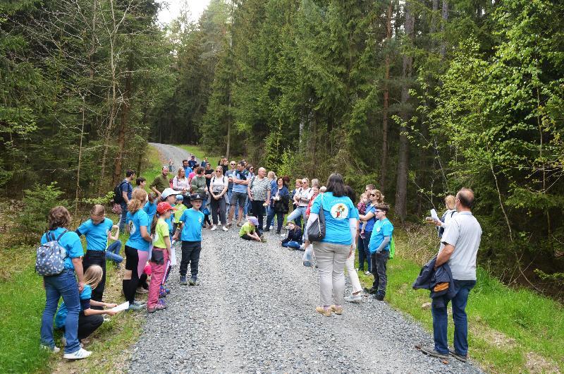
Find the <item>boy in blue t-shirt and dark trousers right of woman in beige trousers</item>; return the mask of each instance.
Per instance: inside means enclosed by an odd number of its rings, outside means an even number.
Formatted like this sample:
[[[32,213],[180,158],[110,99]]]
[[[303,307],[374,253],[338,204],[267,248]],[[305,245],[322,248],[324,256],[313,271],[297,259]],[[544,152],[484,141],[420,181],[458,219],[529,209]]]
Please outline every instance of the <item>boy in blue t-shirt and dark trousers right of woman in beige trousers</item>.
[[[370,260],[372,261],[372,274],[374,275],[374,283],[372,288],[369,289],[369,293],[375,294],[374,298],[379,301],[384,300],[386,284],[388,283],[386,265],[390,258],[390,243],[393,234],[393,224],[386,217],[389,209],[386,204],[374,205],[374,217],[377,221],[374,223],[368,245]]]

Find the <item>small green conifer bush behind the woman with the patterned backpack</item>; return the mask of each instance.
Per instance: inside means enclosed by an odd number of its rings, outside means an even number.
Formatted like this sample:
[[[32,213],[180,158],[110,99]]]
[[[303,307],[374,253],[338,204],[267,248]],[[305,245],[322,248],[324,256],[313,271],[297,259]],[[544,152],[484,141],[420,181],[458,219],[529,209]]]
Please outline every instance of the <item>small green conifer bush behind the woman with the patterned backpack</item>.
[[[56,184],[56,182],[47,185],[36,183],[32,189],[23,191],[23,207],[18,212],[17,218],[23,236],[37,240],[37,236],[47,229],[49,210],[58,205],[68,204],[61,198],[63,191]]]

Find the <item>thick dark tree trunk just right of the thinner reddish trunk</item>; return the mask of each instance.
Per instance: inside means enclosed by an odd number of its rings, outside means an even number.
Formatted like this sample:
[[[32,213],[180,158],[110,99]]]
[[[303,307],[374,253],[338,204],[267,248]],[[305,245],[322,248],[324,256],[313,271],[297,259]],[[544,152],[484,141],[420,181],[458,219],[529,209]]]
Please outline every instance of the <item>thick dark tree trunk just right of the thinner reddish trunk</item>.
[[[413,38],[415,17],[410,3],[405,3],[405,35],[410,42]],[[407,52],[409,53],[409,52]],[[410,99],[410,80],[413,66],[413,58],[409,54],[403,56],[402,88],[401,88],[401,118],[404,122],[410,120],[411,108],[408,103]],[[398,179],[396,183],[396,215],[403,223],[407,217],[407,166],[409,163],[409,140],[407,139],[407,128],[400,129],[400,147],[398,152]]]

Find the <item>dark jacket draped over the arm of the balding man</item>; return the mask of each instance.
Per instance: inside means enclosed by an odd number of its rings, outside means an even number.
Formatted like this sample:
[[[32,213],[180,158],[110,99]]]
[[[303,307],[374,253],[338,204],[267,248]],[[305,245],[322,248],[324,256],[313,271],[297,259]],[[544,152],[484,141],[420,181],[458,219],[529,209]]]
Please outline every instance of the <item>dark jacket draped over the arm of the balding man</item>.
[[[453,273],[450,272],[450,266],[447,263],[437,267],[435,270],[436,256],[428,263],[423,265],[419,272],[419,277],[413,282],[413,289],[429,289],[432,298],[432,304],[435,308],[444,308],[446,303],[456,296]],[[445,289],[444,284],[448,283]],[[439,287],[441,291],[436,290]]]

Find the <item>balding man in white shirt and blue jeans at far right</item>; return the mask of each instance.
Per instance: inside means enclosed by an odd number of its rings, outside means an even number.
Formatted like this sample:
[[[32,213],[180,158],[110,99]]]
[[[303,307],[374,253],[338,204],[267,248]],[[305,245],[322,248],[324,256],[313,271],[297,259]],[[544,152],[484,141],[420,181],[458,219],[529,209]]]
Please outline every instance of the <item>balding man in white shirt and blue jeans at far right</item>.
[[[458,215],[450,219],[441,239],[441,249],[436,258],[435,269],[445,263],[453,274],[456,296],[453,303],[454,350],[448,349],[446,307],[431,307],[435,346],[423,346],[422,351],[430,356],[446,359],[448,354],[466,362],[468,354],[468,320],[466,304],[472,287],[476,285],[476,256],[482,237],[482,227],[472,215],[474,192],[462,188],[456,194],[455,206]]]

